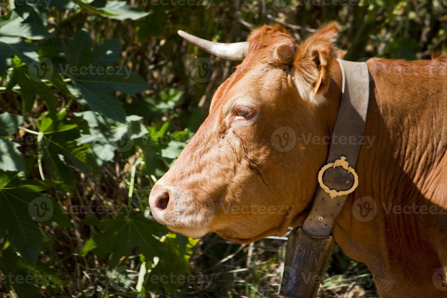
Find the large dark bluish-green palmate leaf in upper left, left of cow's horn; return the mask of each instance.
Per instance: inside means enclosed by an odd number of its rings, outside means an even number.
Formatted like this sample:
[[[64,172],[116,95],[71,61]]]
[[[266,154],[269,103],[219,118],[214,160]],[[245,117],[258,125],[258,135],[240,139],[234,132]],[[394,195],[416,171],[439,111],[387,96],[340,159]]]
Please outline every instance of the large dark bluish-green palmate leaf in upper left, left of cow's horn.
[[[119,40],[112,39],[95,45],[85,30],[78,31],[73,38],[63,40],[62,47],[67,64],[61,67],[64,75],[80,89],[82,96],[93,111],[118,122],[126,121],[122,102],[115,92],[135,96],[148,88],[148,84],[127,67],[105,67],[119,59]]]

